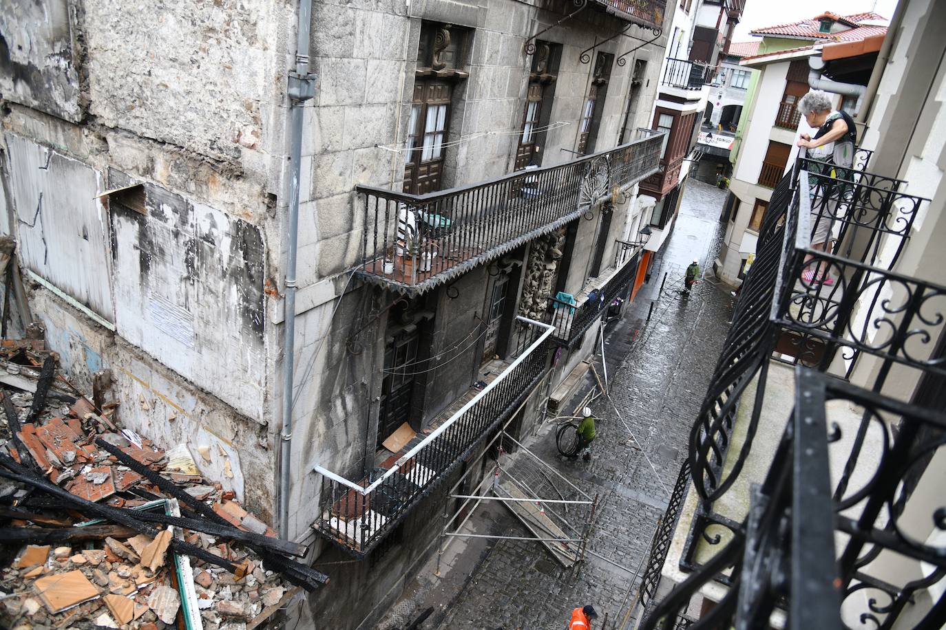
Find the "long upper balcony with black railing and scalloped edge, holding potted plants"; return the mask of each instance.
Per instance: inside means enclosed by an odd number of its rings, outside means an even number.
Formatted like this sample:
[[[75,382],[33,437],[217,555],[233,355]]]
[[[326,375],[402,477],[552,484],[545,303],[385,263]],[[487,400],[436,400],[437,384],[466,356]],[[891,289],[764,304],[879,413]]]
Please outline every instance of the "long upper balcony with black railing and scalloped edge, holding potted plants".
[[[359,275],[416,296],[548,233],[657,171],[662,134],[578,160],[427,195],[359,186]]]

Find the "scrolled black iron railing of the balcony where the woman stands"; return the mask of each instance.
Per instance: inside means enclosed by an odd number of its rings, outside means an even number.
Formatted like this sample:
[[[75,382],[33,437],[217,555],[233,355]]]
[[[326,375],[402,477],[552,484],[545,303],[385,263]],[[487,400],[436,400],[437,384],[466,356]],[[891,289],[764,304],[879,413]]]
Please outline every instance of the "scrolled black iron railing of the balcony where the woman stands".
[[[762,406],[773,361],[784,361],[787,355],[789,363],[850,375],[859,358],[873,355],[875,391],[884,387],[894,368],[946,377],[942,352],[932,350],[934,342],[943,339],[946,287],[889,271],[925,200],[902,193],[901,180],[864,170],[869,157],[859,152],[855,167],[847,170],[802,157],[773,192],[756,261],[690,434],[686,468],[697,508],[681,569],[703,571],[711,565],[712,579],[737,584],[740,568],[735,561],[725,561],[727,552],[710,553],[709,561],[699,562],[696,551],[702,547],[700,557],[705,558],[708,550],[729,549],[727,543],[735,544],[739,553],[745,549],[740,540],[745,539],[746,523],[716,512],[714,505],[742,474],[762,422],[772,419],[762,418]],[[737,416],[742,444],[730,453]],[[863,435],[855,438],[859,442]],[[839,488],[850,484],[857,454],[852,457],[837,477]],[[675,523],[678,515],[679,510],[668,510],[664,525]],[[659,556],[655,548],[644,585],[658,576],[655,567],[663,565]],[[730,560],[734,557],[729,554]]]

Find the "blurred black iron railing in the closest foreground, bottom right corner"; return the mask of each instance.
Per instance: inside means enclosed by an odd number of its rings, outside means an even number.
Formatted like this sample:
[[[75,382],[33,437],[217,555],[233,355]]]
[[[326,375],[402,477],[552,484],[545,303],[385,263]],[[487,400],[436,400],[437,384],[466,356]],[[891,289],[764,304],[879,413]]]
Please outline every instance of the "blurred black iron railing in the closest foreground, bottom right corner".
[[[875,436],[871,448],[867,433]],[[692,630],[770,627],[777,610],[789,629],[942,628],[946,548],[929,535],[946,530],[946,509],[918,488],[941,484],[934,457],[944,436],[939,407],[797,367],[795,409],[748,516],[652,608],[642,630],[674,628],[723,570],[732,576],[727,594]],[[861,484],[832,477],[832,461],[862,468]]]

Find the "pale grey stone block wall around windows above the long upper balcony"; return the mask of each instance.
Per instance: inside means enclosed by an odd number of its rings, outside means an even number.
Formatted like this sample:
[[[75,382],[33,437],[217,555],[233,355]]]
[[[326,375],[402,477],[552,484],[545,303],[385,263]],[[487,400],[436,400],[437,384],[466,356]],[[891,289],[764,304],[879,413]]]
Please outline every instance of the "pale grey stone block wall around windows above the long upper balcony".
[[[314,107],[307,111],[303,146],[299,245],[305,264],[300,268],[300,285],[358,262],[363,198],[354,193],[355,186],[401,188],[422,22],[469,29],[464,68],[469,76],[454,85],[449,112],[441,185],[446,189],[513,170],[532,64],[524,50],[526,38],[559,21],[572,10],[568,7],[565,3],[538,9],[515,0],[479,5],[446,0],[421,0],[407,6],[316,5],[312,58],[320,80]],[[599,43],[603,33],[610,35],[624,26],[597,9],[587,9],[542,35],[562,46],[549,119],[553,128],[546,135],[542,165],[574,159],[581,111],[599,51],[613,58],[593,150],[617,145],[634,60],[653,57],[639,77],[636,100],[640,107],[627,119],[629,128],[650,127],[659,54],[642,49],[618,65],[617,58],[639,43],[619,36],[590,50],[587,63],[581,61],[583,51]],[[629,31],[635,36],[648,33],[637,26]],[[625,142],[631,137],[625,136]]]

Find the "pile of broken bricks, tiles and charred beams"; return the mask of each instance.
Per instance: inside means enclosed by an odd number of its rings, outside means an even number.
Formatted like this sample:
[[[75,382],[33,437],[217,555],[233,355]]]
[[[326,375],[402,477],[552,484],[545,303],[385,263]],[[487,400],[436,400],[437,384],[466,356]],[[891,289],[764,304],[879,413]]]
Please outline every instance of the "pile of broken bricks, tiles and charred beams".
[[[57,373],[43,341],[0,344],[0,627],[262,627],[326,581],[307,549]]]

